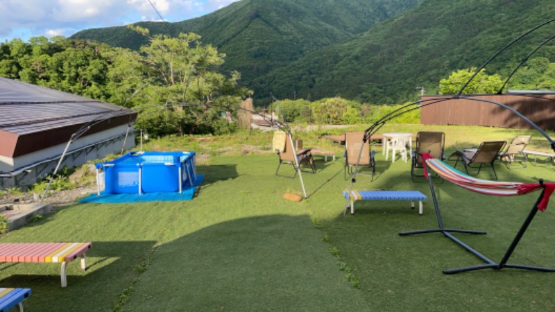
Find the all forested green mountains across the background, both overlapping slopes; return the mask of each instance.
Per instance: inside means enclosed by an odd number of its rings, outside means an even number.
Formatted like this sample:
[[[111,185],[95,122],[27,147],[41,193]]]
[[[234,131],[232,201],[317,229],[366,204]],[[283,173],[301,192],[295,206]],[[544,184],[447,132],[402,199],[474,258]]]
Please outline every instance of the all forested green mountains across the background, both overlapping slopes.
[[[241,72],[255,103],[342,96],[367,103],[413,101],[456,69],[479,67],[518,35],[555,16],[553,0],[242,0],[178,23],[138,23],[151,33],[193,32],[227,54],[222,71]],[[515,44],[486,73],[509,76],[555,23]],[[138,49],[127,28],[72,38]],[[539,38],[539,39],[538,39]],[[555,62],[548,43],[534,56]]]

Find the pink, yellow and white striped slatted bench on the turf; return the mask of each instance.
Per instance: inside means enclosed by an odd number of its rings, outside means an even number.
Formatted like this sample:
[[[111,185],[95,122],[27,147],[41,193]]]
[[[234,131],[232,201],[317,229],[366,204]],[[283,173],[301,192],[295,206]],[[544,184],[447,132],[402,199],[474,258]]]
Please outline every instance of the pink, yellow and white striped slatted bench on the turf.
[[[85,252],[92,243],[0,243],[0,262],[62,263],[62,287],[67,286],[66,266],[81,258],[81,270],[87,268]]]

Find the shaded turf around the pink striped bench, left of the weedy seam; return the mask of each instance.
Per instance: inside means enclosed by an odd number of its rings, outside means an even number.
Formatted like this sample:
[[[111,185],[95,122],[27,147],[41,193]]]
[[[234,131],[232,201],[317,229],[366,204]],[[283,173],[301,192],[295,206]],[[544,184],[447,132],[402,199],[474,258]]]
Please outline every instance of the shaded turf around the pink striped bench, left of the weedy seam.
[[[60,286],[60,263],[6,263],[2,287],[31,288],[26,311],[107,311],[132,284],[155,241],[94,241],[87,251],[87,270],[79,259],[67,263],[67,287]]]

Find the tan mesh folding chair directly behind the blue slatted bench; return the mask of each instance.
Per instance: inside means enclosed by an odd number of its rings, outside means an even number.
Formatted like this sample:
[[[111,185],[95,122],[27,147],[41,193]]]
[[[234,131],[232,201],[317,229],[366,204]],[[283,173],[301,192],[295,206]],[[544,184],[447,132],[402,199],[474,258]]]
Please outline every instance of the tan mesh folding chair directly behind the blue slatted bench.
[[[364,137],[363,132],[346,132],[345,133],[345,168],[343,177],[345,180],[354,173],[354,168],[357,165],[357,160],[359,159],[359,169],[370,168],[372,180],[374,180],[374,175],[376,173],[375,169],[375,150],[370,148],[370,140],[364,142],[362,145],[362,138]],[[362,153],[361,153],[362,146]],[[368,174],[357,172],[357,174]]]

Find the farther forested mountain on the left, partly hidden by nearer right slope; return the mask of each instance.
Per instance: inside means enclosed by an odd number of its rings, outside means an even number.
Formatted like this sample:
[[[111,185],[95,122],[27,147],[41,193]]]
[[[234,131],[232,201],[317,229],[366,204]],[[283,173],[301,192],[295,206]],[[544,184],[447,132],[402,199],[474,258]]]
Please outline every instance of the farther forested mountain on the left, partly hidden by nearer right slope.
[[[241,82],[256,89],[255,79],[307,53],[345,42],[419,1],[422,0],[241,0],[195,19],[135,25],[148,28],[151,34],[198,33],[204,44],[212,44],[227,55],[222,71],[241,72]],[[146,37],[123,26],[88,29],[71,39],[135,50],[148,44]]]

